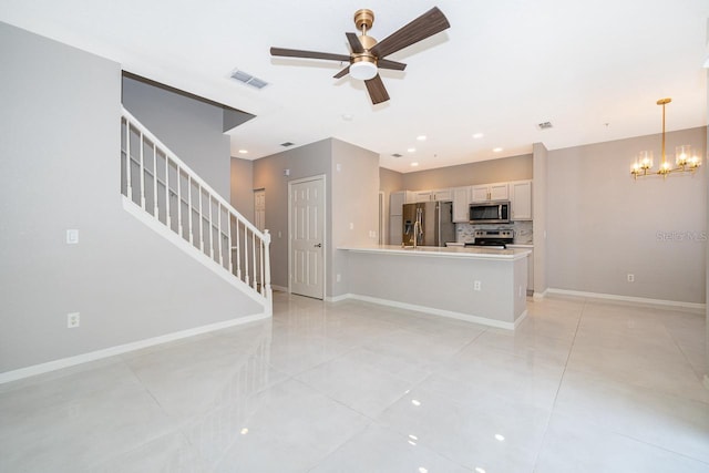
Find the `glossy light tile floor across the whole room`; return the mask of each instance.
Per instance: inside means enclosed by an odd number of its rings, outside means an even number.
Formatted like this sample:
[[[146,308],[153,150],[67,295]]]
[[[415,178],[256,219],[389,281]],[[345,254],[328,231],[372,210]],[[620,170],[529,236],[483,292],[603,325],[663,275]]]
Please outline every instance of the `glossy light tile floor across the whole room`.
[[[0,471],[709,472],[702,315],[528,310],[277,292],[273,320],[0,385]]]

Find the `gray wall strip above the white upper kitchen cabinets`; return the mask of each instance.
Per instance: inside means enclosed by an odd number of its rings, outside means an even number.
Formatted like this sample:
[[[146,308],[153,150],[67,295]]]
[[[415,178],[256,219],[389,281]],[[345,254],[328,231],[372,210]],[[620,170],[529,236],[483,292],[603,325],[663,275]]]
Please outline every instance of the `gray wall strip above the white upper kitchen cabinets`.
[[[403,189],[427,191],[532,178],[532,155],[480,161],[403,174]]]

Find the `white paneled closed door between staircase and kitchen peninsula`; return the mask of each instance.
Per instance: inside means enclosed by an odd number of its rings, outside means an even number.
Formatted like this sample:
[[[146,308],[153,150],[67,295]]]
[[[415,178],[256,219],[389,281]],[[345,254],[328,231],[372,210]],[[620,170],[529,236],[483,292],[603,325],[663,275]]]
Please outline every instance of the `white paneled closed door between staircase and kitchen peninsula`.
[[[325,178],[289,184],[290,291],[325,297]]]

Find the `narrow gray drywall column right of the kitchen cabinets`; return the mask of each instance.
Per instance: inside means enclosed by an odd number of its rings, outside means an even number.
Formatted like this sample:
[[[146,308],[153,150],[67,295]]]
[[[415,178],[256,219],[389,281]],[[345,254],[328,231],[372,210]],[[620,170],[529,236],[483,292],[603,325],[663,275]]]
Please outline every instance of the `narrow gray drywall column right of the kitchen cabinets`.
[[[532,232],[534,234],[534,297],[546,292],[546,165],[548,152],[542,143],[533,145]]]

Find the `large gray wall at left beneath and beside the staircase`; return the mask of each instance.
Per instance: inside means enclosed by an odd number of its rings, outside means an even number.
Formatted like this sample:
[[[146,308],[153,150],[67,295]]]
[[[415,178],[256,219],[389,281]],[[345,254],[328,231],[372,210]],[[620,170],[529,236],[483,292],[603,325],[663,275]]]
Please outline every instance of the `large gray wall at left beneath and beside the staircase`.
[[[0,61],[0,372],[260,311],[123,210],[119,64],[4,23]]]

